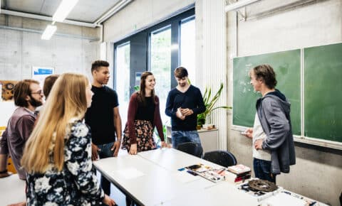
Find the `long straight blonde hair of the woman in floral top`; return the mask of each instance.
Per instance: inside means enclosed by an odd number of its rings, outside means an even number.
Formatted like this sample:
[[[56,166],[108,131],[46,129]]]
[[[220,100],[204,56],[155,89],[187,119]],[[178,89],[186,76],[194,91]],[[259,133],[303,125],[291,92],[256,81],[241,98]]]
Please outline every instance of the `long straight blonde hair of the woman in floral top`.
[[[68,124],[75,117],[83,119],[87,110],[88,84],[84,75],[64,73],[58,77],[26,142],[21,158],[21,166],[26,172],[44,173],[51,163],[58,171],[63,169]]]

